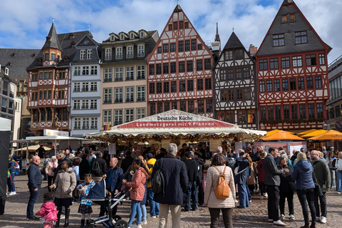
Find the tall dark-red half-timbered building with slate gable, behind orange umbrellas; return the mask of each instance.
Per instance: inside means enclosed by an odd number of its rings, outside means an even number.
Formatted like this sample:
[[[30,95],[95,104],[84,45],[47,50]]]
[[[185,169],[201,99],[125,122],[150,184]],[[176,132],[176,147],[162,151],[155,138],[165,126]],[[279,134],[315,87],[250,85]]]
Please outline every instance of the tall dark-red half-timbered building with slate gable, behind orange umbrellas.
[[[294,1],[284,0],[255,55],[259,118],[265,130],[322,128],[329,51]]]

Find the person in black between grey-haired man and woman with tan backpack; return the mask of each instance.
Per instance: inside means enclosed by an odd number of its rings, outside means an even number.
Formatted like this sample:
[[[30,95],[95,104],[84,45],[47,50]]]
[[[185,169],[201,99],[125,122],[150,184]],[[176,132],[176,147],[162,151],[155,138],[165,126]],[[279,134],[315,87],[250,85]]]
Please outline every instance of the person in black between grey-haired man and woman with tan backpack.
[[[187,185],[187,192],[185,193],[185,212],[190,211],[190,206],[193,211],[197,211],[197,175],[198,175],[198,163],[192,160],[192,152],[185,152],[185,167],[187,167],[187,178],[189,184]],[[192,198],[192,204],[190,202],[190,196]]]

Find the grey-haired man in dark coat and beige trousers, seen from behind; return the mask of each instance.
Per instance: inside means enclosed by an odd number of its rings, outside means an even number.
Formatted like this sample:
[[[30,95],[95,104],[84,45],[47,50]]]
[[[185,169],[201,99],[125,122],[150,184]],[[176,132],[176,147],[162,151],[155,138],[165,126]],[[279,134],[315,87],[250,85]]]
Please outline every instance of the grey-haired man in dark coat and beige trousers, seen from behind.
[[[189,180],[187,178],[187,169],[185,163],[177,159],[177,145],[170,143],[167,147],[167,155],[155,162],[152,171],[152,179],[155,172],[162,168],[165,178],[163,192],[155,194],[153,199],[159,202],[160,217],[159,227],[167,227],[167,212],[169,207],[172,213],[172,227],[180,227],[180,209],[183,204],[183,196],[187,190]],[[162,167],[160,167],[162,163]]]

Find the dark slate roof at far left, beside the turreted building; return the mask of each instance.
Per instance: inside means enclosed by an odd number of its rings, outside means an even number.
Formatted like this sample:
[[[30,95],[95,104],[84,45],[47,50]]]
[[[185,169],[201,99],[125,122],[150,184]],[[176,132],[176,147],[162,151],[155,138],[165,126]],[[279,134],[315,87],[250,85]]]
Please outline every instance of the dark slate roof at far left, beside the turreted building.
[[[9,68],[9,76],[27,79],[26,68],[38,56],[40,49],[0,48],[0,64]]]

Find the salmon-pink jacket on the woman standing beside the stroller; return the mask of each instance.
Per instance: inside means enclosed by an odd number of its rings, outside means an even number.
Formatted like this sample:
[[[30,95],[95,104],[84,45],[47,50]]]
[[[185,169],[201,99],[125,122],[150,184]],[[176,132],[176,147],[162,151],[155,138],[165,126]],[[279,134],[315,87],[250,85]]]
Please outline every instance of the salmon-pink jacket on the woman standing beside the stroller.
[[[146,175],[142,172],[143,168],[140,168],[135,172],[133,175],[132,182],[127,182],[126,185],[128,187],[132,187],[130,190],[130,199],[134,199],[137,201],[141,201],[144,199],[145,194],[145,182],[146,182]]]

